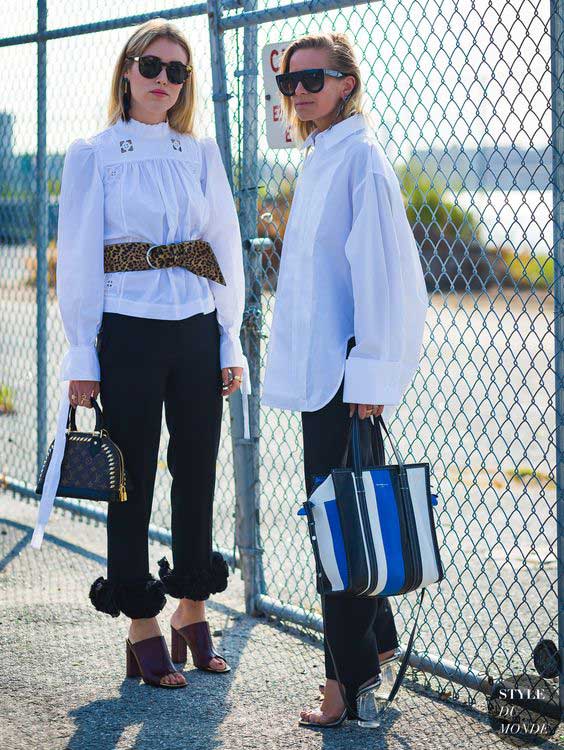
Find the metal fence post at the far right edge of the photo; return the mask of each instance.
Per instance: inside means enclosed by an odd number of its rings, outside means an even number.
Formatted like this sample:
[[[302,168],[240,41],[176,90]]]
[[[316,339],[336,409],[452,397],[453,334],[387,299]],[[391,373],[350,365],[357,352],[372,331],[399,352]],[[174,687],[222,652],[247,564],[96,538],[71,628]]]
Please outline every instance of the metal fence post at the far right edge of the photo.
[[[556,536],[560,714],[564,717],[564,0],[551,2]]]

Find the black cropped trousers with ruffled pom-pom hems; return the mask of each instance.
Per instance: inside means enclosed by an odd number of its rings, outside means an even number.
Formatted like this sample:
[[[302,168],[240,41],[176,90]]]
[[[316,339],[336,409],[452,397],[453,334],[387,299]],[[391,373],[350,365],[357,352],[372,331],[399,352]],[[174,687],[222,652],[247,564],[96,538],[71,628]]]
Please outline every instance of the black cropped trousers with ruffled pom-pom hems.
[[[108,579],[93,584],[91,599],[109,614],[152,617],[167,593],[202,600],[227,586],[227,565],[211,547],[223,410],[216,313],[184,320],[104,313],[97,348],[104,424],[124,456],[128,499],[108,506]],[[156,580],[148,528],[163,404],[174,567],[162,558]]]

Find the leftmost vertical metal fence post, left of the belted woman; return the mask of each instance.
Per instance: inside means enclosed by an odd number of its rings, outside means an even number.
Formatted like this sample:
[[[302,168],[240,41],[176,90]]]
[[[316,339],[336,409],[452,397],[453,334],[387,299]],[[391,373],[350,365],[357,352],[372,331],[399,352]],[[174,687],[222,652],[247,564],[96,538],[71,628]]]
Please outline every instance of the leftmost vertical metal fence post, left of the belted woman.
[[[37,30],[47,30],[47,0],[37,2]],[[47,189],[47,42],[37,41],[37,474],[47,451],[47,245],[49,195]]]

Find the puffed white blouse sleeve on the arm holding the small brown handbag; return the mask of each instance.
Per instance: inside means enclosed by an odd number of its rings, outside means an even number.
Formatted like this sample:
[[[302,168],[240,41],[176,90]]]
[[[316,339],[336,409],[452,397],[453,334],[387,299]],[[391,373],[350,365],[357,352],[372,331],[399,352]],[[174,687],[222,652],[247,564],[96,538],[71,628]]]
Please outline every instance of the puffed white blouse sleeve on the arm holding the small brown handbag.
[[[74,141],[59,201],[57,296],[70,349],[61,380],[99,380],[96,336],[104,310],[104,187],[94,149]]]

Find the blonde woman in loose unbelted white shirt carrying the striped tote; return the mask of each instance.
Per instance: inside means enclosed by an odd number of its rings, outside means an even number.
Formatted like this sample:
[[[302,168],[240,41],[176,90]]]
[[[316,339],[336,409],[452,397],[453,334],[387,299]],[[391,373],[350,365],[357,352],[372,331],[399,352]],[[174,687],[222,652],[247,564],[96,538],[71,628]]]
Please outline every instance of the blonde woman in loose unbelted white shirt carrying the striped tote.
[[[262,403],[301,412],[307,483],[340,465],[355,410],[367,431],[367,417],[386,420],[401,401],[428,297],[397,177],[362,113],[347,37],[290,44],[278,85],[306,156],[284,235]],[[354,707],[360,687],[379,684],[398,641],[385,597],[328,596],[324,612],[323,702],[300,723],[333,727],[348,713],[341,690]]]

